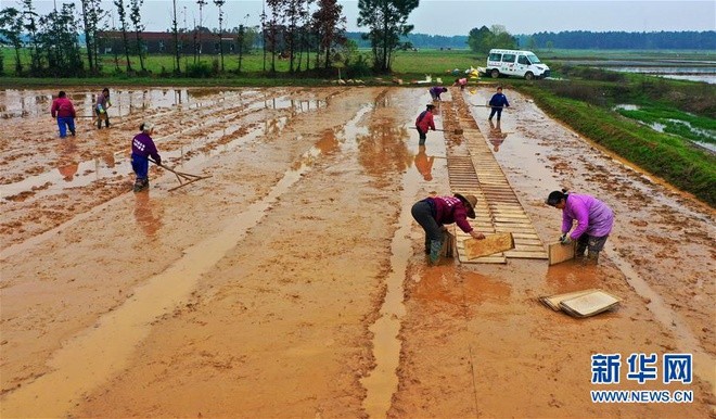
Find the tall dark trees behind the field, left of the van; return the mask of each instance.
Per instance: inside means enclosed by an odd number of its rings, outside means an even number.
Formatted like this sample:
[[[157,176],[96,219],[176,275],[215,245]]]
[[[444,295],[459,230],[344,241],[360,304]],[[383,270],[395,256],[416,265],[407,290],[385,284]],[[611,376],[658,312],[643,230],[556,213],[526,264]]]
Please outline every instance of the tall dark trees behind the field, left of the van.
[[[78,77],[100,75],[103,71],[103,46],[108,34],[120,34],[119,47],[112,48],[115,72],[120,72],[119,62],[128,75],[146,75],[146,41],[142,5],[144,0],[113,0],[114,9],[103,9],[101,0],[79,0],[63,3],[59,9],[40,15],[33,0],[21,0],[18,8],[0,10],[0,48],[10,48],[14,73],[30,77]],[[201,59],[201,37],[216,39],[219,51],[214,73],[223,73],[226,29],[231,26],[223,14],[226,0],[196,0],[199,14],[207,5],[218,11],[218,29],[209,30],[195,26],[193,30],[180,29],[177,18],[176,0],[168,31],[172,35],[170,52],[174,74],[204,74],[208,65]],[[372,64],[357,54],[355,42],[346,36],[346,17],[337,0],[266,0],[260,14],[260,26],[244,27],[233,25],[231,39],[239,46],[239,69],[243,53],[251,53],[253,47],[260,46],[264,72],[277,72],[277,59],[289,61],[289,72],[317,72],[333,66],[354,66],[356,71],[372,69],[379,73],[391,71],[393,53],[400,46],[401,38],[410,34],[410,13],[418,8],[419,0],[359,0],[358,25],[367,27],[362,38],[371,46]],[[118,22],[114,22],[117,16]],[[112,22],[111,22],[112,21]],[[200,17],[201,22],[201,17]],[[181,66],[180,42],[187,33],[193,35],[194,60]],[[202,35],[204,34],[204,35]],[[197,39],[199,38],[199,39]],[[80,45],[80,39],[82,43]],[[248,40],[248,42],[246,41]],[[114,39],[112,40],[114,42]],[[255,41],[255,42],[254,42]],[[244,48],[246,47],[246,48]],[[0,51],[1,52],[1,51]],[[29,54],[29,63],[24,54]],[[119,56],[119,53],[124,56]],[[0,73],[4,71],[0,54]],[[139,60],[139,67],[132,59]]]

